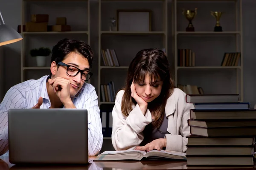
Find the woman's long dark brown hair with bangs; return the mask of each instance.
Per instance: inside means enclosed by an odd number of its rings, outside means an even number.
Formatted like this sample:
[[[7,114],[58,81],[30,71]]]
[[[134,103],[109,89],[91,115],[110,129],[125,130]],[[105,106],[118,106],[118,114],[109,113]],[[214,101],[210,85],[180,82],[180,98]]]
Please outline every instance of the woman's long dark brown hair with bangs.
[[[160,95],[152,102],[148,103],[148,109],[157,113],[156,119],[152,122],[153,127],[159,128],[165,117],[165,106],[167,99],[172,94],[174,81],[171,78],[169,70],[169,62],[166,54],[162,50],[150,48],[139,51],[131,61],[128,68],[128,76],[126,85],[123,88],[125,91],[122,97],[122,113],[128,116],[132,111],[132,104],[137,104],[135,99],[131,97],[131,84],[140,81],[144,82],[145,75],[148,74],[151,82],[163,81],[163,87]]]

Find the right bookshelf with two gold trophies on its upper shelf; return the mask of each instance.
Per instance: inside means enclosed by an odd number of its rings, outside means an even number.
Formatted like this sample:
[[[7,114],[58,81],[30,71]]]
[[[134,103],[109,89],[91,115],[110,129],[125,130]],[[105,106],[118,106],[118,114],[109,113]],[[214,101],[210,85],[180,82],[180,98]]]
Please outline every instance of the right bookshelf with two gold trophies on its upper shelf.
[[[204,94],[240,94],[243,101],[243,37],[241,0],[173,0],[175,85],[197,85]],[[198,8],[192,20],[195,31],[186,31],[189,21],[182,14]],[[224,12],[222,32],[215,32],[216,19],[210,11]],[[179,49],[195,52],[195,66],[180,66]],[[221,66],[224,53],[240,52],[240,64]]]

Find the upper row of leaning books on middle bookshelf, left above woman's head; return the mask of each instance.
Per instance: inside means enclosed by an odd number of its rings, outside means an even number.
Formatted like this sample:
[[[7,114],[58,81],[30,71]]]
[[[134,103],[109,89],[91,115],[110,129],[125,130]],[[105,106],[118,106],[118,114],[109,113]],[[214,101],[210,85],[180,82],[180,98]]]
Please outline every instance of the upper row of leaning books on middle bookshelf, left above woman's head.
[[[116,51],[113,49],[101,50],[101,56],[104,66],[120,66],[116,55]]]

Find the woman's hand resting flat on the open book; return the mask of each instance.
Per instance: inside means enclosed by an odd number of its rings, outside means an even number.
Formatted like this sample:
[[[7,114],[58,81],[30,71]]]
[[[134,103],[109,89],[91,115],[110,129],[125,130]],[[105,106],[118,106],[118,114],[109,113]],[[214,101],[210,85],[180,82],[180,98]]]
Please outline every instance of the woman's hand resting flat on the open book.
[[[154,141],[146,144],[145,146],[137,146],[135,147],[135,150],[146,150],[148,152],[153,149],[156,149],[160,151],[163,147],[166,147],[166,139],[160,138],[155,139]]]

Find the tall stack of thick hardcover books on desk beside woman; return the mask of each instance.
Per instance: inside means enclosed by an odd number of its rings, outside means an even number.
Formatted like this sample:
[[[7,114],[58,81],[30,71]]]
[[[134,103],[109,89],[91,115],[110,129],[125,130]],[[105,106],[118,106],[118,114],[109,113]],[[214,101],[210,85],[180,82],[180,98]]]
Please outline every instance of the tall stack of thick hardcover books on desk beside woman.
[[[186,95],[191,136],[187,166],[253,166],[256,109],[239,94]]]

